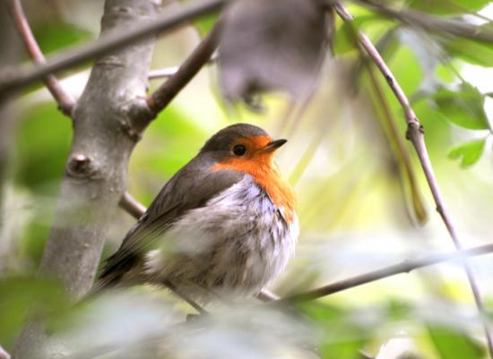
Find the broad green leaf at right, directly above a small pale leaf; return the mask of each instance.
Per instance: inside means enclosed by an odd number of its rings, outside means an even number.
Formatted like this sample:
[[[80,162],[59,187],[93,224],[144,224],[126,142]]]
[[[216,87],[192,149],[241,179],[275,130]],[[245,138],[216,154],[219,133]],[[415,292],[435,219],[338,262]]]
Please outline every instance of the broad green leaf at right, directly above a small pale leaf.
[[[484,95],[469,83],[460,90],[441,88],[434,95],[437,106],[454,124],[470,130],[488,130],[488,116],[484,110]]]

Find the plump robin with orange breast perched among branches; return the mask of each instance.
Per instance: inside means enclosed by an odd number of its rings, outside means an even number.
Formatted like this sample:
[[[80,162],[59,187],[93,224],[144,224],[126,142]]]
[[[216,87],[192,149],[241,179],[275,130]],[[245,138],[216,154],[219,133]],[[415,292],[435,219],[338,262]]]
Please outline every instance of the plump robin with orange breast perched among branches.
[[[97,290],[168,286],[189,303],[258,294],[298,241],[295,194],[274,162],[286,142],[252,124],[212,135],[125,235]]]

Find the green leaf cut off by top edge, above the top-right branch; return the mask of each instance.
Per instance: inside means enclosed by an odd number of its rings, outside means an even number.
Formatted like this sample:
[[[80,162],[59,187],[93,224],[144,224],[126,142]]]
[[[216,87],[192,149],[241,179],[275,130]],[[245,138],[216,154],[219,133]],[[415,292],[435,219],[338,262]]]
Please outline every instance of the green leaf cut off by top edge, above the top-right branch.
[[[489,4],[489,0],[411,0],[409,7],[425,13],[473,13]]]

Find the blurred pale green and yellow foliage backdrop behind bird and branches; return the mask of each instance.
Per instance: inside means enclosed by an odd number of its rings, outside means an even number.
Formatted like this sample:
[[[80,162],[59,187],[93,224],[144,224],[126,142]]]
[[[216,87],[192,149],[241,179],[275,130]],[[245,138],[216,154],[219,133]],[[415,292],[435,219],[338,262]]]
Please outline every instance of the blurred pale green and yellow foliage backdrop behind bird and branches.
[[[98,37],[101,0],[22,3],[48,58]],[[491,26],[493,18],[493,5],[484,1],[399,4],[481,26]],[[437,180],[464,247],[491,243],[493,47],[404,26],[357,4],[348,7],[424,125]],[[212,20],[160,37],[151,68],[181,64]],[[405,140],[401,107],[380,73],[374,69],[376,80],[368,76],[340,19],[335,26],[334,56],[325,59],[316,90],[306,100],[295,103],[271,93],[262,97],[260,111],[232,106],[221,98],[216,66],[208,65],[151,123],[130,161],[128,191],[148,205],[203,142],[228,124],[257,124],[274,138],[287,138],[277,163],[297,192],[301,234],[296,257],[270,288],[277,295],[454,250],[411,142]],[[11,40],[17,41],[15,36]],[[21,43],[18,48],[19,62],[29,63]],[[76,98],[90,65],[60,76]],[[162,81],[151,80],[151,89]],[[75,357],[95,357],[111,345],[131,357],[343,359],[362,355],[360,350],[379,359],[487,357],[469,284],[454,261],[302,304],[295,317],[258,305],[239,312],[221,309],[209,331],[174,327],[192,311],[172,295],[149,288],[69,310],[56,283],[32,276],[53,219],[72,124],[40,85],[16,98],[8,117],[12,121],[0,134],[0,141],[8,143],[0,197],[0,344],[7,350],[22,328],[25,308],[38,303],[41,312],[63,308],[50,318],[54,330],[64,333],[56,340],[71,343],[80,355]],[[402,159],[406,156],[408,163]],[[117,209],[103,258],[117,249],[133,223]],[[474,258],[471,264],[491,319],[493,257]],[[173,340],[158,340],[161,336]],[[159,348],[147,346],[156,340]]]

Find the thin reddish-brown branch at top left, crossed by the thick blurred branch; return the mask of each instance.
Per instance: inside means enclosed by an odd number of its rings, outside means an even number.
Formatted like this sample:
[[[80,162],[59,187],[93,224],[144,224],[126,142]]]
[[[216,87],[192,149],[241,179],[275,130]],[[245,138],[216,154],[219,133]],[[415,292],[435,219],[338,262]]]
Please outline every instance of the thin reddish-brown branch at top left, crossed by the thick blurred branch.
[[[10,12],[12,13],[15,26],[21,35],[22,41],[26,49],[28,50],[30,57],[35,64],[46,64],[45,56],[41,49],[39,48],[38,42],[32,31],[30,30],[29,22],[27,21],[26,14],[22,9],[21,0],[12,0],[9,6]],[[64,90],[60,82],[56,80],[56,77],[52,74],[48,74],[44,77],[46,87],[49,92],[55,98],[56,103],[60,110],[67,116],[71,117],[72,109],[74,108],[75,100],[70,96],[68,92]]]

